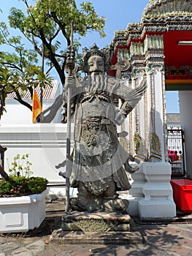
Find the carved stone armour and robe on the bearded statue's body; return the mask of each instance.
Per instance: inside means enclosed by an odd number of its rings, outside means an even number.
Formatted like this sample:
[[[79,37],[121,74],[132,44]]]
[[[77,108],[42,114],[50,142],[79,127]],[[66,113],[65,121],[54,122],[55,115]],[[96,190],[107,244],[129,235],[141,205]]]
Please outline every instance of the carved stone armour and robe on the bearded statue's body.
[[[86,90],[85,84],[76,97],[72,165],[72,187],[81,181],[94,195],[109,189],[111,181],[116,190],[131,187],[123,169],[128,154],[118,141],[112,94],[102,91],[99,84],[107,89],[104,83],[96,83]]]

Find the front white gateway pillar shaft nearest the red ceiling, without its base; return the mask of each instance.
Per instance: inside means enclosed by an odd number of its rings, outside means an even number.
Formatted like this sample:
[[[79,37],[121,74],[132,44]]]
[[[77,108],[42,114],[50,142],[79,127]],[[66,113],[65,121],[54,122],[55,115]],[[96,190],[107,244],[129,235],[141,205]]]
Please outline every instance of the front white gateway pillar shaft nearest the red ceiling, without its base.
[[[148,85],[148,160],[164,162],[166,159],[166,107],[163,36],[153,35],[145,38],[145,64]]]

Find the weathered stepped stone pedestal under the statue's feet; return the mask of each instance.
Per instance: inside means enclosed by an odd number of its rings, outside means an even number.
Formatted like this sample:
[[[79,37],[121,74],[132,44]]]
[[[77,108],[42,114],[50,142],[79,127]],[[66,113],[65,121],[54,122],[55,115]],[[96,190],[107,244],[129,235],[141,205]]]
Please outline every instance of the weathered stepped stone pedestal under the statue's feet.
[[[54,230],[50,242],[63,244],[139,244],[142,236],[128,214],[66,213],[61,229]]]

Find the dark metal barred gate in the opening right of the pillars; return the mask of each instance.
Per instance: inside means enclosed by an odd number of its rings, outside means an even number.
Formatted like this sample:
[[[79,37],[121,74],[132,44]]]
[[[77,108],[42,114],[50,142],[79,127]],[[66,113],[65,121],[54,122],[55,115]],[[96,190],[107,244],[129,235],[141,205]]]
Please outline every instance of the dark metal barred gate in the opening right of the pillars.
[[[185,145],[183,129],[167,130],[169,162],[172,165],[172,178],[185,177]]]

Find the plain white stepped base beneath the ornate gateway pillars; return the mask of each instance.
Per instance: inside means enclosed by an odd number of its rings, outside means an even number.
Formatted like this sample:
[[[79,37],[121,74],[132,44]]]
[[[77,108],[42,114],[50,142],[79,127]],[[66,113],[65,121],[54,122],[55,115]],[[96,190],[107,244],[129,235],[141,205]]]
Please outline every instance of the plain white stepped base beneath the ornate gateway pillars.
[[[142,162],[132,175],[128,191],[128,214],[140,219],[174,218],[176,206],[173,200],[169,162]]]

